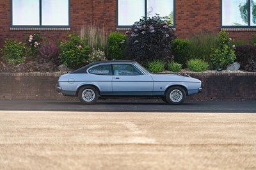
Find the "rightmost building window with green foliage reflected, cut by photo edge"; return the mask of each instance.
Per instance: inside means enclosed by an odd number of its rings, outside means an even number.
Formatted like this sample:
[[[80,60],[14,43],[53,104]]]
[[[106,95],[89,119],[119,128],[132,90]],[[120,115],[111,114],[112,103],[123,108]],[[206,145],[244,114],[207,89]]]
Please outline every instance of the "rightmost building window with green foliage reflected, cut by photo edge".
[[[223,27],[253,27],[256,26],[255,0],[222,0]]]

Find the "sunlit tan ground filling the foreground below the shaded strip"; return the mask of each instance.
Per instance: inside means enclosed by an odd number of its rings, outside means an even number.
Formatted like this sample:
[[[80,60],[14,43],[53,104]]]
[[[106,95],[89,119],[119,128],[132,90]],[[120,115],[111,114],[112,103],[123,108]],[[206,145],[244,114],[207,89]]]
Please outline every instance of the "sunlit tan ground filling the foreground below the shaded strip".
[[[0,111],[0,169],[256,169],[256,114]]]

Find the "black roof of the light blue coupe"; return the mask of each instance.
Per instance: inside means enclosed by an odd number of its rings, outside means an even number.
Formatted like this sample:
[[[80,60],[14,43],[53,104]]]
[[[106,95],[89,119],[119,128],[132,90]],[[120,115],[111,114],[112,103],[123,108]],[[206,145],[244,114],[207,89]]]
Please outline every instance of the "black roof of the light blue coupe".
[[[102,63],[112,63],[112,64],[115,64],[115,63],[137,63],[136,61],[132,61],[132,60],[107,60],[107,61],[95,61],[93,63],[90,63],[86,66],[83,66],[81,68],[78,68],[77,70],[74,70],[73,72],[71,73],[86,73],[86,70],[88,68],[90,68],[91,66],[93,65],[99,65],[99,64],[102,64]]]

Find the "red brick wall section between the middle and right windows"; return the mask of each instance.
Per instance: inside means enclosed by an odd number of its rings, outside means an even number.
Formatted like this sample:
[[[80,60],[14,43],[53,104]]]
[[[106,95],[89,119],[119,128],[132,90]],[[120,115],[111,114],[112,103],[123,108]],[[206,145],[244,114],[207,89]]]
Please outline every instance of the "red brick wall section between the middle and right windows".
[[[176,1],[176,33],[179,38],[200,31],[220,31],[220,0]]]

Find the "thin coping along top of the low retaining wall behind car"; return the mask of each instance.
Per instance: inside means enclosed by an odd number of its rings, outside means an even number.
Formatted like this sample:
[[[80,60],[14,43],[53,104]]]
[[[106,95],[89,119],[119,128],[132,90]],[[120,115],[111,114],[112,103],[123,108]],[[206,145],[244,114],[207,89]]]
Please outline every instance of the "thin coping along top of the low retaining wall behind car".
[[[0,75],[5,75],[5,76],[54,76],[58,77],[60,75],[65,74],[65,72],[54,72],[54,73],[0,73]],[[161,73],[163,74],[163,73]],[[180,74],[180,75],[205,75],[205,76],[211,76],[211,75],[255,75],[256,72],[180,72],[180,73],[172,73],[168,72],[166,74]]]

